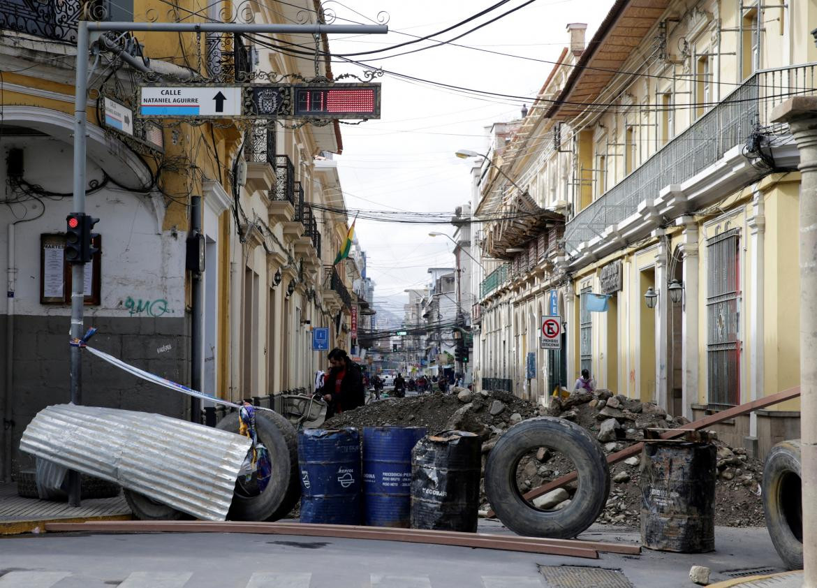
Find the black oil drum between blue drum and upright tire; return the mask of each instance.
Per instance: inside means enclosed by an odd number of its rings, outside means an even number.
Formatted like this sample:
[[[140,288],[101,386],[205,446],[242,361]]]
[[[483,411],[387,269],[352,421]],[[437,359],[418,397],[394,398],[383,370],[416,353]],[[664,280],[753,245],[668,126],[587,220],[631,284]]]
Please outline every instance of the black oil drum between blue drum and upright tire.
[[[482,442],[466,431],[428,435],[411,452],[411,526],[476,532]]]

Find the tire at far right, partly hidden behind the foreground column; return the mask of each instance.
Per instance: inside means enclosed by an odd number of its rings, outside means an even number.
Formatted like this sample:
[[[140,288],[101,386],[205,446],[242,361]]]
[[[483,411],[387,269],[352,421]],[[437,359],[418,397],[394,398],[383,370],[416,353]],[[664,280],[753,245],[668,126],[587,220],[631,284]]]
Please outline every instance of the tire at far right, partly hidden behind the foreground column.
[[[771,448],[763,466],[766,528],[780,559],[790,570],[803,568],[803,506],[800,439]]]

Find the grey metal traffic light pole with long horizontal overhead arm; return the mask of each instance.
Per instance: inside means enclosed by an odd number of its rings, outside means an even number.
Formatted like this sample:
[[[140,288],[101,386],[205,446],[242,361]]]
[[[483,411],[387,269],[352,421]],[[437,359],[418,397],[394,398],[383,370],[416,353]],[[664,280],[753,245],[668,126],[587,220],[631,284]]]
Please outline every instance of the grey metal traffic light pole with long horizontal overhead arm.
[[[110,31],[172,32],[172,33],[283,33],[283,34],[386,34],[386,25],[243,25],[235,23],[145,23],[89,22],[77,23],[77,65],[74,80],[74,212],[85,213],[85,158],[87,136],[87,91],[89,34]],[[83,336],[83,304],[85,302],[85,264],[71,268],[71,339]],[[71,360],[71,403],[83,402],[82,350],[73,345]],[[80,506],[79,474],[69,471],[69,505]]]

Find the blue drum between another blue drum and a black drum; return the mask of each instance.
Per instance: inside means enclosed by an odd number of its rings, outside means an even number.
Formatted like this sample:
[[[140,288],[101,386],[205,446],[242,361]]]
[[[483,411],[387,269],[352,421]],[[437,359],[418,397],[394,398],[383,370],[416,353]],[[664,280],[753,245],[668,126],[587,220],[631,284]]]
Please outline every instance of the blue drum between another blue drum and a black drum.
[[[426,427],[364,427],[364,524],[408,528],[411,450]]]

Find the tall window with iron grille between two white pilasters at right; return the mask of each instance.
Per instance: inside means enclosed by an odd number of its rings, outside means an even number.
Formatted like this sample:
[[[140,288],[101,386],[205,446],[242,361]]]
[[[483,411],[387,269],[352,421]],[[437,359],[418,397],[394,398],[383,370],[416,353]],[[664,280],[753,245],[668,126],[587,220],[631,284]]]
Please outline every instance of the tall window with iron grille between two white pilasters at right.
[[[740,403],[740,230],[707,239],[709,408]]]

